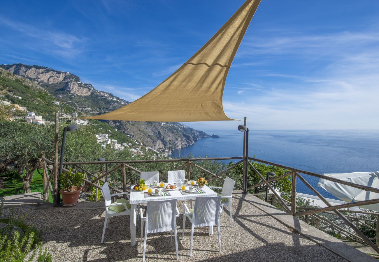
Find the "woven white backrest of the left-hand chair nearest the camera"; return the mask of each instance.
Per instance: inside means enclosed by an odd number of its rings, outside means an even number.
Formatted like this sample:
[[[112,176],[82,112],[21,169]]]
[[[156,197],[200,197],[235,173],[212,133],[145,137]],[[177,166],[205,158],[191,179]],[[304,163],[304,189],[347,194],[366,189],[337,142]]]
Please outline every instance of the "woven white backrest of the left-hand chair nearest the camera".
[[[174,230],[176,227],[176,198],[147,201],[146,230],[157,233]],[[146,232],[146,231],[145,231]]]

